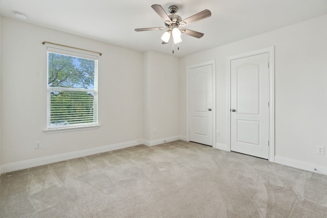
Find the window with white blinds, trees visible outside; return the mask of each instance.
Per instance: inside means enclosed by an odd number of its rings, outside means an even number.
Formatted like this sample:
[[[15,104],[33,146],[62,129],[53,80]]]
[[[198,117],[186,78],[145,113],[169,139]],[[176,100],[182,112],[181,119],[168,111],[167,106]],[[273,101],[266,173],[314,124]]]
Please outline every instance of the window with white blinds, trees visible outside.
[[[98,57],[48,47],[47,129],[98,125]]]

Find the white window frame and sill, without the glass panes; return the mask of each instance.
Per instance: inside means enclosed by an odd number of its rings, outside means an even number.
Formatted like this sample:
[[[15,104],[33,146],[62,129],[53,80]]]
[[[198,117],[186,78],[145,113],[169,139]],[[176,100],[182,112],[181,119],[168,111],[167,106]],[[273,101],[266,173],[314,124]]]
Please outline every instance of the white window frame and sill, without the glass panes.
[[[78,58],[91,59],[96,61],[95,66],[95,78],[94,78],[94,89],[79,89],[79,88],[63,88],[63,87],[49,87],[49,53],[56,53],[61,55],[73,56]],[[84,123],[79,125],[62,125],[62,126],[51,126],[51,90],[74,90],[74,91],[90,91],[94,93],[94,111],[95,111],[95,122],[93,123]],[[99,128],[99,113],[98,113],[98,56],[94,54],[88,54],[87,52],[81,53],[79,50],[61,48],[61,47],[47,47],[46,52],[46,129],[45,133],[56,133],[56,132],[68,132],[68,131],[77,131],[77,130],[85,130],[85,129],[96,129]]]

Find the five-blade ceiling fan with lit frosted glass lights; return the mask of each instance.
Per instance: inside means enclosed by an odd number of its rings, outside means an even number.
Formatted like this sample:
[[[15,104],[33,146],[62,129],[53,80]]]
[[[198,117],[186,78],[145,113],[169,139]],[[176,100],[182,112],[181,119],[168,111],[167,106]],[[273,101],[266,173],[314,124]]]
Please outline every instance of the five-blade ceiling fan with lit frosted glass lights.
[[[209,10],[201,11],[189,18],[183,19],[175,14],[178,10],[178,7],[175,5],[172,5],[168,8],[168,11],[171,13],[171,15],[168,15],[166,11],[161,7],[161,5],[152,5],[151,6],[155,12],[165,21],[166,27],[154,27],[154,28],[141,28],[141,29],[135,29],[136,32],[141,31],[149,31],[149,30],[167,30],[164,35],[162,35],[161,40],[162,44],[167,44],[171,38],[173,38],[174,44],[177,44],[182,41],[181,39],[181,33],[193,36],[196,38],[201,38],[204,34],[199,33],[193,30],[188,30],[185,28],[179,29],[179,27],[184,27],[186,25],[189,25],[190,23],[202,20],[204,18],[207,18],[211,16],[211,12]],[[179,47],[178,47],[179,49]],[[174,49],[173,49],[174,53]]]

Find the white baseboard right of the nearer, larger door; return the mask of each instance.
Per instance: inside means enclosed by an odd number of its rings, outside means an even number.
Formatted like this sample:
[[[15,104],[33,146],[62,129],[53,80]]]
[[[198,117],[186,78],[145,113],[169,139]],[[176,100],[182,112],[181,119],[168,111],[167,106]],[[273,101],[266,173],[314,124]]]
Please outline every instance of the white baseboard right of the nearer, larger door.
[[[304,169],[305,171],[311,171],[314,173],[319,173],[327,175],[327,166],[308,163],[304,161],[294,160],[286,157],[275,156],[275,163],[283,164],[286,166],[292,166],[299,169]]]

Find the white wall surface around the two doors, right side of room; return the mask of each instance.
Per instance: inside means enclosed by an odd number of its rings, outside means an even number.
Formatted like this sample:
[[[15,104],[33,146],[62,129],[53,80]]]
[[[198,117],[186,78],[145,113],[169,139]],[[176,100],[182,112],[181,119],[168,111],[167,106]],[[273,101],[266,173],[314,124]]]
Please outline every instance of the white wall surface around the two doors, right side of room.
[[[327,173],[326,155],[316,153],[316,146],[327,148],[326,23],[324,15],[182,58],[180,134],[186,136],[186,66],[216,60],[217,143],[226,144],[226,58],[274,45],[276,162]]]

